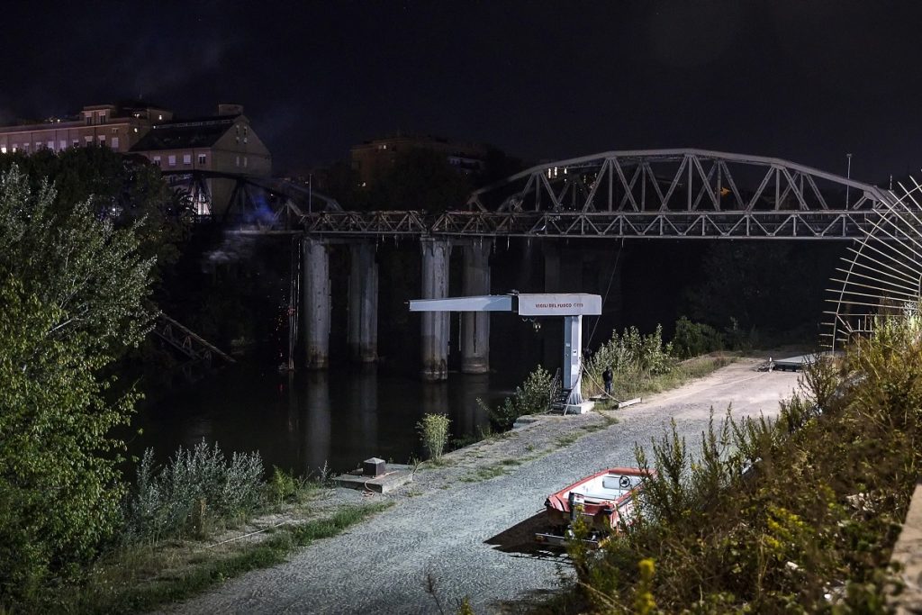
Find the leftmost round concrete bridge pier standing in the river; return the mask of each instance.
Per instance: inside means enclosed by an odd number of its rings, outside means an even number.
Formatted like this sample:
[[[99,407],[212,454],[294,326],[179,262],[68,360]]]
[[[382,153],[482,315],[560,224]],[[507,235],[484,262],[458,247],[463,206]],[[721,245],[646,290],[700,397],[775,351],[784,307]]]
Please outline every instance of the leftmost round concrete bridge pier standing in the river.
[[[330,358],[330,254],[325,242],[305,238],[304,349],[309,370],[324,370]]]

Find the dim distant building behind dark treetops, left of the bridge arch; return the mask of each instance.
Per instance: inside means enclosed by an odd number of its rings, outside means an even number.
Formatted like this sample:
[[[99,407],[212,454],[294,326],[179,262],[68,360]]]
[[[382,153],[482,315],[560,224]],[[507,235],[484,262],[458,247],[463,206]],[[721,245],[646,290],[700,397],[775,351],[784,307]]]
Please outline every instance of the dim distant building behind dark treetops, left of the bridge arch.
[[[440,136],[385,136],[364,141],[351,149],[352,169],[358,173],[361,185],[367,185],[394,167],[400,152],[425,149],[441,154],[462,174],[481,171],[487,159],[487,146],[479,143],[453,141]]]

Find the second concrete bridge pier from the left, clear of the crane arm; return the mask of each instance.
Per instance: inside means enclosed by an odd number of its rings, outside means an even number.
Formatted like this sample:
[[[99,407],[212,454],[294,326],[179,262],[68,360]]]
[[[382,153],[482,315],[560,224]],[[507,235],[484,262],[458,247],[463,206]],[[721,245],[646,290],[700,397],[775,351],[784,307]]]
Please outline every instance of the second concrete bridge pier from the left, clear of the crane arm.
[[[349,253],[349,356],[372,363],[378,360],[378,264],[372,243],[353,243]]]

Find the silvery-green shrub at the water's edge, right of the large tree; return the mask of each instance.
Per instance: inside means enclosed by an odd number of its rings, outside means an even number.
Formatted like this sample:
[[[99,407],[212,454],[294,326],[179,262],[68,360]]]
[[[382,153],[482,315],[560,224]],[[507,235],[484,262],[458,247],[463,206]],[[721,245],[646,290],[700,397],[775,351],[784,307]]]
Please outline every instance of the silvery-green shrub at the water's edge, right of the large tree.
[[[137,469],[137,485],[128,506],[127,537],[160,539],[202,534],[219,521],[253,512],[264,490],[258,453],[234,453],[225,459],[218,444],[204,441],[182,447],[157,471],[151,449]]]

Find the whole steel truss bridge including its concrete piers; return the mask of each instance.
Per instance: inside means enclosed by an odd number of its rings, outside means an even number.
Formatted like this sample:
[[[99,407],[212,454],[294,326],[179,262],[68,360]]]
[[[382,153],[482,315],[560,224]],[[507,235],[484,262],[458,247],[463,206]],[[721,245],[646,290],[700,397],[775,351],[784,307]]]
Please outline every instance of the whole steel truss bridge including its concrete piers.
[[[440,213],[347,211],[316,193],[305,203],[302,189],[293,194],[271,180],[238,180],[229,208],[236,232],[301,238],[301,318],[312,369],[327,365],[334,243],[349,244],[352,356],[375,361],[374,245],[384,239],[419,242],[419,296],[437,299],[447,296],[454,248],[463,251],[464,294],[482,295],[491,292],[491,245],[502,239],[545,243],[546,268],[559,276],[560,253],[552,249],[558,239],[850,241],[872,231],[894,198],[877,186],[788,160],[694,148],[609,151],[544,163],[477,190],[466,203],[432,204]],[[262,215],[254,215],[259,210]],[[429,380],[447,378],[448,317],[422,314],[422,374]],[[462,370],[487,372],[489,313],[464,314],[461,339]]]

